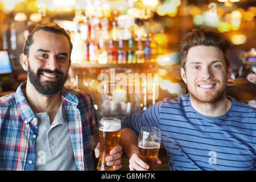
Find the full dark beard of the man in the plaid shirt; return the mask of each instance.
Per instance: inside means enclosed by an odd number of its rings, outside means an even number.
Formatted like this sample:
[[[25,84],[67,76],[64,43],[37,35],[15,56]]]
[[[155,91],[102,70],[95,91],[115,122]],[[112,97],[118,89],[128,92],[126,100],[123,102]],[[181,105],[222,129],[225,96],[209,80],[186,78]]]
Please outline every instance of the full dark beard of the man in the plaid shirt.
[[[36,73],[32,71],[30,68],[30,64],[28,64],[28,78],[30,79],[31,84],[35,87],[35,89],[44,96],[53,96],[58,93],[64,86],[67,81],[68,74],[64,76],[63,72],[58,70],[51,71],[49,69],[39,68]],[[42,72],[53,73],[59,77],[57,81],[40,81],[40,76]]]

